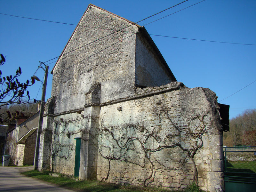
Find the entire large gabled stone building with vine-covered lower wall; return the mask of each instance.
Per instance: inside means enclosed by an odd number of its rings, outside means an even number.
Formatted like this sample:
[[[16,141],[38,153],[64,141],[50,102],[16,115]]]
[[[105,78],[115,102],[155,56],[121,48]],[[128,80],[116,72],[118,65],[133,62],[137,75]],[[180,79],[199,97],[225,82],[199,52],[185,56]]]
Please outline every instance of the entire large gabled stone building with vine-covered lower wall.
[[[224,188],[221,105],[177,82],[144,27],[90,4],[52,75],[39,170],[172,189],[198,173]]]

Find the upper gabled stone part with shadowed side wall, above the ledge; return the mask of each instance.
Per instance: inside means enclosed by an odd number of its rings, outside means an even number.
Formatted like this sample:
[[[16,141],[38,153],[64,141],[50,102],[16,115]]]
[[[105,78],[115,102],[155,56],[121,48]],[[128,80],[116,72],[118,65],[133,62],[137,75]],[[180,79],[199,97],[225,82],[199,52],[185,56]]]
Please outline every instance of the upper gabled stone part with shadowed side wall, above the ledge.
[[[100,102],[105,103],[131,96],[135,85],[175,81],[139,28],[113,13],[88,7],[52,71],[54,114],[83,108],[84,94],[98,82]]]

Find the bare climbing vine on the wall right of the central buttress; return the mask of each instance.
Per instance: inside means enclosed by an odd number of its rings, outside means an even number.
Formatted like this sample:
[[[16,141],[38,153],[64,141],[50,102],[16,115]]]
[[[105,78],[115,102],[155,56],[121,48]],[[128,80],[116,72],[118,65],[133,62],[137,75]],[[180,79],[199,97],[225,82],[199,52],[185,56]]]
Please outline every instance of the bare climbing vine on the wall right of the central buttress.
[[[146,122],[123,123],[120,125],[105,125],[101,121],[98,130],[98,151],[100,156],[108,160],[107,180],[111,170],[110,161],[128,162],[145,168],[150,165],[148,177],[143,181],[144,186],[154,181],[155,166],[162,165],[167,170],[180,170],[188,160],[194,166],[193,182],[197,184],[197,167],[194,156],[203,146],[203,137],[208,135],[212,120],[208,118],[209,111],[190,115],[181,123],[175,120],[170,109],[161,104],[155,107],[155,125],[148,126]],[[157,157],[157,152],[170,148],[179,149],[179,160],[175,165],[169,165]],[[198,185],[198,184],[197,184]]]

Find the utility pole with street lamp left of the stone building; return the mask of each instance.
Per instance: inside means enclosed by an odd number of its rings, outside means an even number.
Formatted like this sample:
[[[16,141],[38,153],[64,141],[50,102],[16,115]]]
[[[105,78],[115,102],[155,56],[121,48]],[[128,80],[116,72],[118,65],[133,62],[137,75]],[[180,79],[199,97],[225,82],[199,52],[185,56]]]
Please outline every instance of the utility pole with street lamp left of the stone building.
[[[40,62],[40,61],[39,61]],[[43,62],[40,62],[41,64],[44,64]],[[39,122],[37,127],[37,135],[36,135],[36,149],[35,149],[35,157],[34,157],[34,169],[37,170],[38,168],[38,156],[39,156],[39,145],[40,145],[40,135],[42,131],[42,125],[43,125],[43,114],[44,114],[44,103],[45,103],[45,92],[46,92],[46,84],[47,84],[47,77],[48,77],[48,65],[45,65],[45,69],[39,66],[40,68],[44,69],[44,83],[43,83],[43,92],[42,92],[42,99],[41,99],[41,106],[40,106],[40,112],[39,112]],[[40,81],[40,80],[39,80]]]

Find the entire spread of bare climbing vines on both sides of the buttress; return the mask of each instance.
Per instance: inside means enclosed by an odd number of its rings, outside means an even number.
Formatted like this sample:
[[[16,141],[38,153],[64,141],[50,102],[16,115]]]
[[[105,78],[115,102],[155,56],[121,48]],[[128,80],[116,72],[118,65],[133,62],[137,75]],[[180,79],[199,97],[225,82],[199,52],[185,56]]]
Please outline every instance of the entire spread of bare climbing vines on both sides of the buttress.
[[[56,157],[68,160],[70,152],[74,150],[74,141],[68,138],[80,134],[83,140],[96,141],[91,143],[98,150],[98,154],[108,161],[107,174],[101,181],[108,180],[111,161],[127,162],[147,170],[148,176],[143,179],[143,185],[148,186],[154,181],[156,166],[160,165],[169,171],[179,171],[191,160],[194,167],[193,182],[198,185],[194,157],[203,147],[203,137],[209,134],[213,121],[209,117],[210,111],[198,112],[199,109],[186,109],[186,111],[189,115],[182,115],[186,117],[177,119],[168,106],[157,105],[152,111],[154,125],[145,121],[111,125],[101,118],[91,116],[54,119],[50,143],[52,171]],[[81,121],[82,119],[85,120]],[[99,127],[89,131],[89,121],[99,121]],[[176,154],[172,159],[170,158],[172,164],[169,162],[170,159],[159,158],[160,151],[164,151],[165,154]]]

